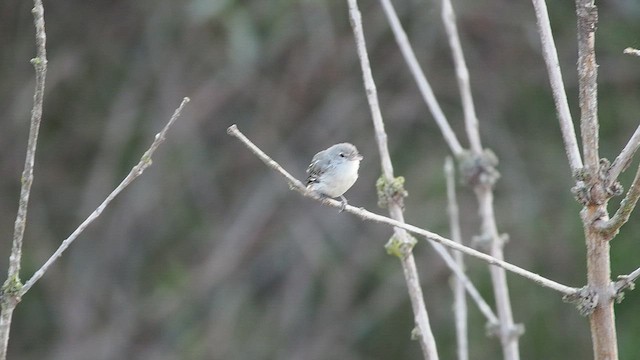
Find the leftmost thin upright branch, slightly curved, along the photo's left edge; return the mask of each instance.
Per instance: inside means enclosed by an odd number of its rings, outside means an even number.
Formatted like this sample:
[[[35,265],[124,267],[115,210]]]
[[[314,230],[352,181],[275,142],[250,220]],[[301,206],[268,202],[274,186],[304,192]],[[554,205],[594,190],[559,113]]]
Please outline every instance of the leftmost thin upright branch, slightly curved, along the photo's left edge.
[[[29,195],[33,184],[33,167],[35,164],[38,132],[42,119],[42,104],[44,100],[44,84],[47,77],[47,35],[44,28],[44,7],[41,0],[34,0],[33,21],[36,28],[36,57],[31,60],[36,72],[36,88],[33,94],[33,108],[31,109],[31,125],[27,142],[27,156],[22,172],[20,201],[15,221],[13,244],[9,256],[9,270],[7,280],[0,290],[0,360],[7,357],[9,332],[13,310],[20,301],[18,295],[20,283],[20,262],[22,261],[22,242],[27,223],[27,208]]]

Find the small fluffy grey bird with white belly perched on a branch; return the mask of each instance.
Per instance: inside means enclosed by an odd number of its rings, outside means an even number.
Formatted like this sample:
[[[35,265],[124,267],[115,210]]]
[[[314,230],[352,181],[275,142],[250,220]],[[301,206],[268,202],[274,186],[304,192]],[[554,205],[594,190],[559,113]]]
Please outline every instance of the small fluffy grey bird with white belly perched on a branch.
[[[362,155],[349,143],[340,143],[317,153],[307,168],[307,189],[322,196],[340,197],[342,210],[347,199],[342,196],[358,179]]]

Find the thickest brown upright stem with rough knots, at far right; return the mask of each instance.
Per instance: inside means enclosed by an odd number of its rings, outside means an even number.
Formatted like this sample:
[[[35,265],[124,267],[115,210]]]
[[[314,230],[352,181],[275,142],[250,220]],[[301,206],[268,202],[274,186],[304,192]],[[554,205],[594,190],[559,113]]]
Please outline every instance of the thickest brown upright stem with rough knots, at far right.
[[[597,304],[589,316],[594,358],[617,359],[618,344],[613,310],[614,286],[611,282],[611,260],[609,240],[595,226],[596,220],[607,218],[607,199],[602,191],[603,179],[599,169],[598,155],[598,88],[595,56],[595,31],[598,9],[593,0],[576,0],[578,17],[578,80],[580,86],[580,126],[582,147],[588,185],[588,197],[581,212],[587,246],[587,279],[590,290],[595,293]]]

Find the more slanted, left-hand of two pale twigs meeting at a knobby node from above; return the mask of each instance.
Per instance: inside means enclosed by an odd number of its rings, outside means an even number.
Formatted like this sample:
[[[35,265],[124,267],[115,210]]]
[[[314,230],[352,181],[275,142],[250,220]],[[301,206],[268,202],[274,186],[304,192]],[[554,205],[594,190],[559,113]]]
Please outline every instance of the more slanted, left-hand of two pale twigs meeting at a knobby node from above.
[[[418,84],[418,89],[420,89],[420,93],[422,94],[422,98],[425,103],[429,107],[431,111],[431,115],[435,119],[436,123],[440,127],[440,131],[442,132],[442,136],[444,140],[449,145],[451,152],[457,157],[462,155],[464,149],[456,134],[451,129],[451,125],[447,121],[444,112],[440,108],[440,104],[438,100],[436,100],[436,96],[433,94],[433,90],[431,90],[431,85],[429,85],[429,81],[427,77],[424,75],[420,64],[418,63],[418,59],[416,58],[413,49],[411,48],[411,44],[409,44],[409,40],[407,39],[407,34],[405,33],[402,25],[400,24],[400,20],[398,19],[398,15],[396,14],[393,5],[389,0],[380,0],[382,3],[382,7],[384,8],[384,12],[389,19],[389,24],[391,25],[391,30],[393,31],[393,35],[396,38],[396,42],[402,51],[402,55],[404,56],[404,60],[407,62],[407,66],[409,66],[409,70],[413,74],[413,78],[416,80]]]

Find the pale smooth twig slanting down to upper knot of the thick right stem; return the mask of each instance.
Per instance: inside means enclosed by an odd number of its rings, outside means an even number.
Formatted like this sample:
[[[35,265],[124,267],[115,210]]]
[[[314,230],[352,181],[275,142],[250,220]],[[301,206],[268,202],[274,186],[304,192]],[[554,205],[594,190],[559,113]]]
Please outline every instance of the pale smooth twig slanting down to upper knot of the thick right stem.
[[[558,112],[558,121],[560,122],[560,131],[562,132],[562,140],[564,148],[569,159],[571,171],[575,173],[582,168],[582,158],[580,157],[580,149],[576,139],[576,131],[571,119],[569,111],[569,103],[567,101],[567,93],[564,89],[562,81],[562,72],[560,70],[560,62],[558,61],[558,52],[551,31],[551,23],[549,22],[549,13],[547,12],[547,4],[545,0],[533,0],[536,18],[538,19],[538,32],[542,41],[542,55],[544,62],[547,64],[547,72],[549,73],[549,81],[553,92],[553,100],[556,104]]]

